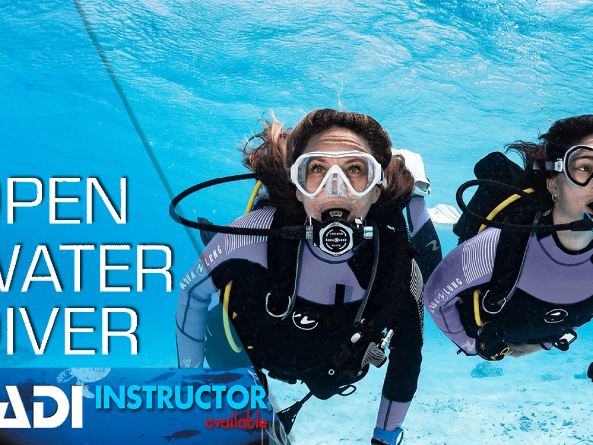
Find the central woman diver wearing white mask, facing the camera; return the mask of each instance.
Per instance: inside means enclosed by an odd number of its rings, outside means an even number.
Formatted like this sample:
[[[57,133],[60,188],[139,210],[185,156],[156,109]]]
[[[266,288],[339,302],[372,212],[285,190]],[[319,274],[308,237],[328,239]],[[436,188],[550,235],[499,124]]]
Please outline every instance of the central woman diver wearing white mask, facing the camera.
[[[181,284],[180,367],[202,366],[205,343],[212,365],[207,313],[211,294],[220,292],[219,306],[250,361],[244,366],[253,364],[264,386],[262,370],[310,390],[278,413],[288,432],[308,398],[352,393],[352,383],[369,365],[383,365],[390,349],[371,442],[400,443],[420,372],[423,328],[418,249],[401,208],[411,204],[415,239],[431,246],[423,255],[430,274],[441,250],[423,205],[429,182],[417,181],[410,202],[415,180],[372,117],[320,109],[291,131],[276,119],[263,123],[244,148],[244,164],[267,191],[253,211],[226,228],[177,217],[218,232]]]

